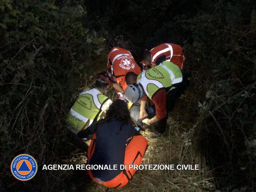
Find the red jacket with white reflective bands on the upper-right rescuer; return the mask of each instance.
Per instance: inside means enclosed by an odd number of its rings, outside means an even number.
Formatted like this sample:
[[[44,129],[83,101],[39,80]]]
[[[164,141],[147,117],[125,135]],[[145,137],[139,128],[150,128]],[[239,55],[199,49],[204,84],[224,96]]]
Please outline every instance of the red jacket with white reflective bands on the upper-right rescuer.
[[[150,52],[152,54],[152,64],[159,65],[163,61],[170,61],[178,65],[180,69],[183,69],[185,57],[180,45],[165,43],[156,46],[155,48],[151,49]]]

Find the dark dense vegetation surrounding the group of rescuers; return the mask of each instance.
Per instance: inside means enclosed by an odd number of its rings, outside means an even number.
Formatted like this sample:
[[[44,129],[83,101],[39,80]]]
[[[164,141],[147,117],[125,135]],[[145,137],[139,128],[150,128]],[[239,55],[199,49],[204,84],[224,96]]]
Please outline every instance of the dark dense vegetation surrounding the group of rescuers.
[[[166,132],[173,133],[171,140],[179,146],[177,162],[205,167],[189,173],[194,175],[187,185],[179,185],[178,174],[169,174],[171,184],[155,173],[158,180],[142,190],[174,185],[180,191],[255,189],[254,1],[2,0],[0,12],[0,191],[95,191],[85,171],[40,169],[43,164],[84,162],[85,153],[65,128],[65,118],[79,91],[105,69],[109,50],[125,47],[136,58],[139,50],[163,42],[184,48],[190,76]],[[159,142],[168,146],[170,134]],[[157,143],[149,150],[164,149]],[[37,176],[27,182],[10,172],[12,158],[20,153],[39,164]],[[172,155],[166,159],[175,160]],[[143,174],[152,173],[138,176]]]

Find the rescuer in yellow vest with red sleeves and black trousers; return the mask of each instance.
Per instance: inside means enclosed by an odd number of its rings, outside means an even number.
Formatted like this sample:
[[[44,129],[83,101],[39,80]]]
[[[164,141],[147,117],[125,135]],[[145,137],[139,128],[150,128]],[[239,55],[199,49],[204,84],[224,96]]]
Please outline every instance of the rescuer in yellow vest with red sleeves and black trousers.
[[[125,90],[126,99],[130,102],[139,102],[140,118],[143,123],[151,125],[155,123],[155,130],[159,133],[165,131],[167,112],[174,107],[174,102],[184,92],[186,78],[182,78],[181,70],[177,65],[163,61],[161,65],[143,71],[136,75],[129,72],[125,76],[125,81],[129,86]],[[151,119],[148,116],[145,105],[149,98],[155,105],[155,113]]]

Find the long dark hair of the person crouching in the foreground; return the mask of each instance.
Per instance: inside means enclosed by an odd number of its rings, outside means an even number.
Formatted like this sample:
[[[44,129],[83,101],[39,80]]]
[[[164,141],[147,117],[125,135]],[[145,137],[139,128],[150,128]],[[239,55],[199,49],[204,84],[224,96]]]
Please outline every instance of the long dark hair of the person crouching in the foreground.
[[[109,106],[109,110],[106,112],[105,118],[102,120],[99,120],[96,123],[96,126],[98,127],[100,124],[106,123],[113,118],[116,118],[117,120],[123,122],[122,125],[124,124],[130,124],[132,126],[135,125],[132,121],[127,103],[122,99],[116,99],[116,101],[114,101]]]

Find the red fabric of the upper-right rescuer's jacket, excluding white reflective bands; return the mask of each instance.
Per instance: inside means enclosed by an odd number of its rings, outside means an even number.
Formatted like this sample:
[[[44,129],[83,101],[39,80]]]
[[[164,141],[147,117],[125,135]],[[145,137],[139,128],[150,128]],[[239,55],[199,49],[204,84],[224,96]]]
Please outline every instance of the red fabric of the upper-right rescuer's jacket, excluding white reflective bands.
[[[181,46],[180,45],[176,45],[176,44],[172,44],[172,43],[169,43],[169,45],[171,45],[172,48],[173,48],[173,56],[172,56],[170,62],[174,63],[175,65],[178,65],[178,67],[182,70],[184,68],[184,61],[186,60],[186,58],[185,58],[185,56],[183,54],[183,50],[182,50]],[[161,44],[161,45],[158,45],[155,48],[151,49],[150,52],[152,54],[152,57],[154,57],[154,55],[157,54],[159,51],[161,51],[163,49],[166,49],[166,48],[168,48],[167,45]],[[155,61],[157,60],[157,58],[161,57],[163,55],[166,56],[165,60],[169,60],[170,59],[170,56],[171,56],[170,51],[166,51],[166,52],[163,52],[163,53],[159,54],[154,59],[154,61],[152,59],[151,63],[155,64]]]

